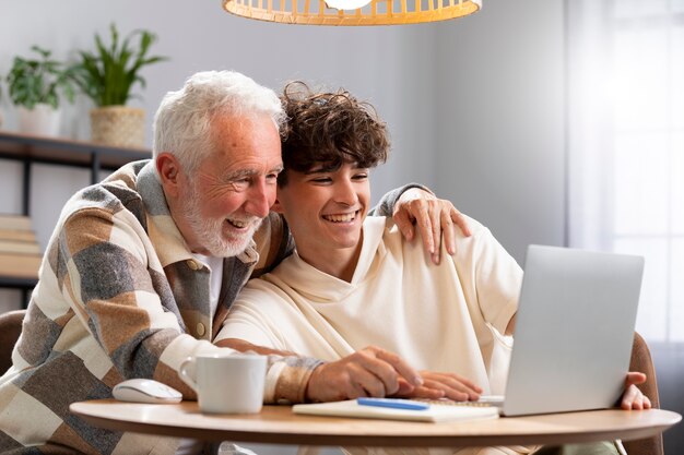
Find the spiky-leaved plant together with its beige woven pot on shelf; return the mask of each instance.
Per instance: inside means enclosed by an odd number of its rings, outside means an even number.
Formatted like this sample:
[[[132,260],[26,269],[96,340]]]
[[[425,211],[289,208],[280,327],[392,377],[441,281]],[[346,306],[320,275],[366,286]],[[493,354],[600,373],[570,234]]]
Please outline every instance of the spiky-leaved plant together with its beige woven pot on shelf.
[[[144,111],[126,104],[135,84],[145,86],[140,70],[166,57],[148,56],[156,40],[151,32],[133,31],[121,40],[114,24],[109,32],[109,46],[95,34],[95,51],[79,51],[80,61],[72,67],[74,79],[96,106],[91,111],[93,142],[139,147],[144,143]]]

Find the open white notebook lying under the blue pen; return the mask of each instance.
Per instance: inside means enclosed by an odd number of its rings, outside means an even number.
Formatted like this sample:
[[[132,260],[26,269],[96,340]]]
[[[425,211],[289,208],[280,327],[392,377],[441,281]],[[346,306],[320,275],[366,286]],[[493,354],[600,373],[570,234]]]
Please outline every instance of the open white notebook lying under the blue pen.
[[[294,405],[294,414],[307,414],[329,417],[358,417],[364,419],[413,420],[420,422],[449,422],[463,420],[486,420],[498,418],[496,407],[485,406],[441,406],[433,405],[427,409],[397,409],[376,406],[363,406],[355,399],[331,403]]]

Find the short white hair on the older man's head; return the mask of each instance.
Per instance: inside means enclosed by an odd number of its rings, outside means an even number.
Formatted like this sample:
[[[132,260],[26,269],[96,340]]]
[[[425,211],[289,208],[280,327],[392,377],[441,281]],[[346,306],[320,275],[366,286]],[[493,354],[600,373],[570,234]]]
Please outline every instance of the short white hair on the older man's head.
[[[152,156],[162,152],[178,158],[188,173],[213,151],[215,115],[268,115],[276,128],[285,121],[278,95],[234,71],[203,71],[191,75],[177,92],[168,92],[154,116]]]

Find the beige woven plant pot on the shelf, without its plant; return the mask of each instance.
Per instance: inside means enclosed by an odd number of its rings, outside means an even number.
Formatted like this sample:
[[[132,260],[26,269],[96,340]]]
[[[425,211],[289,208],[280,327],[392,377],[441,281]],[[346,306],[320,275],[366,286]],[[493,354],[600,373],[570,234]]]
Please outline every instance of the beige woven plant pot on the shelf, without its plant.
[[[97,144],[142,148],[144,133],[143,109],[106,106],[91,110],[91,140]]]

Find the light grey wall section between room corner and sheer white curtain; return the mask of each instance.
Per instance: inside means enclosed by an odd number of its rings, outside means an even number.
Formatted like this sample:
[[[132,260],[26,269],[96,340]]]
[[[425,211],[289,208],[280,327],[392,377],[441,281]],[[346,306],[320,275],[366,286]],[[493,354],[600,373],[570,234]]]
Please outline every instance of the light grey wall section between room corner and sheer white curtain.
[[[563,0],[486,1],[437,27],[436,187],[521,262],[564,238]]]

